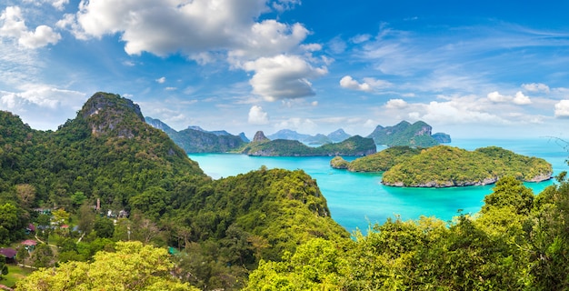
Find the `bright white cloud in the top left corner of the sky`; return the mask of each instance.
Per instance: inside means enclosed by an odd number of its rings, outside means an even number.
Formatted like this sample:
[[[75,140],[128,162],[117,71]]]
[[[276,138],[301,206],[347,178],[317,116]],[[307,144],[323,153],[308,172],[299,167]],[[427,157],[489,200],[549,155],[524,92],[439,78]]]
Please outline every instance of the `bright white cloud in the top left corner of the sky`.
[[[22,10],[18,6],[8,6],[0,15],[0,37],[17,39],[18,44],[25,48],[38,48],[45,45],[55,45],[61,35],[47,25],[39,25],[34,31],[25,25]]]

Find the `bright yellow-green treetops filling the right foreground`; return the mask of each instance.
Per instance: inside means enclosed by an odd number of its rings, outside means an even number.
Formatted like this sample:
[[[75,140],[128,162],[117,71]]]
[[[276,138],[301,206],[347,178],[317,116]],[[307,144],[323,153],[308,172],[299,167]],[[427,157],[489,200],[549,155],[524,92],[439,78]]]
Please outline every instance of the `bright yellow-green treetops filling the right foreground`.
[[[478,216],[388,219],[261,262],[246,290],[567,290],[569,184],[538,196],[508,176]]]

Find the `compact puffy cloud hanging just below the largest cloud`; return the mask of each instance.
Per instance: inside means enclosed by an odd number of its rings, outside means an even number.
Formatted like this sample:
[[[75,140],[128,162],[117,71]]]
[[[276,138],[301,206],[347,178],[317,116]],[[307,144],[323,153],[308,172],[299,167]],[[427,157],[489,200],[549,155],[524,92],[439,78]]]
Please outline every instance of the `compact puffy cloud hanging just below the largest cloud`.
[[[326,67],[313,67],[297,55],[262,57],[245,63],[244,68],[255,72],[249,83],[267,101],[314,95],[308,79],[328,73]]]

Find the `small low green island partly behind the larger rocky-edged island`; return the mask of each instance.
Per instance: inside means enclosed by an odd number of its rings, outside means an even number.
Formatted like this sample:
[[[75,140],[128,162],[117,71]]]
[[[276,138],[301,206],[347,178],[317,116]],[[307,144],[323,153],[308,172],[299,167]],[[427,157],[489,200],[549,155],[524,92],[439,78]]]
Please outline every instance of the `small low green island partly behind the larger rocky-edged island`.
[[[384,172],[420,153],[421,150],[414,147],[392,146],[373,155],[358,157],[352,162],[336,156],[330,161],[330,166],[352,172]]]

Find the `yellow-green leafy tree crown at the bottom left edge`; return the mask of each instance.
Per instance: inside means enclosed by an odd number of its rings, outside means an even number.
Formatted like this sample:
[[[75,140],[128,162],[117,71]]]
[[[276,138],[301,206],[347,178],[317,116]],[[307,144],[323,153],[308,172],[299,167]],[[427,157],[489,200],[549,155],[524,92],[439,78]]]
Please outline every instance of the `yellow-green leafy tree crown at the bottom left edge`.
[[[91,263],[67,262],[40,269],[17,283],[18,290],[197,290],[180,283],[163,248],[119,242],[116,252],[99,252]]]

